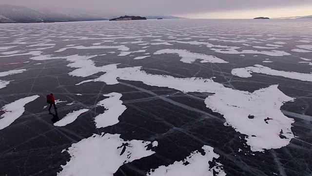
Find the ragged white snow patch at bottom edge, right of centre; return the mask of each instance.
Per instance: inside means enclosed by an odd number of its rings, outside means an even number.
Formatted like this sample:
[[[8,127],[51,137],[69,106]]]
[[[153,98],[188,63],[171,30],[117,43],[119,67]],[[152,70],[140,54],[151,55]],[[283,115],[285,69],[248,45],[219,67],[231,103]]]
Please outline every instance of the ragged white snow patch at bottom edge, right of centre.
[[[150,171],[147,176],[226,176],[220,163],[209,166],[210,162],[219,157],[214,153],[214,148],[204,146],[202,149],[205,154],[198,151],[192,152],[184,160],[176,161],[169,166],[160,166]]]

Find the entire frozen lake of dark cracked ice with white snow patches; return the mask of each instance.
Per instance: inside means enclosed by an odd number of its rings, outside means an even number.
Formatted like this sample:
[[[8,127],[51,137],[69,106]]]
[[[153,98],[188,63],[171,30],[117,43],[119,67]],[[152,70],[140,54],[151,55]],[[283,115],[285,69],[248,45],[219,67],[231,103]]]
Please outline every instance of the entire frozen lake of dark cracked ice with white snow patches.
[[[311,175],[311,31],[312,20],[0,24],[0,175]]]

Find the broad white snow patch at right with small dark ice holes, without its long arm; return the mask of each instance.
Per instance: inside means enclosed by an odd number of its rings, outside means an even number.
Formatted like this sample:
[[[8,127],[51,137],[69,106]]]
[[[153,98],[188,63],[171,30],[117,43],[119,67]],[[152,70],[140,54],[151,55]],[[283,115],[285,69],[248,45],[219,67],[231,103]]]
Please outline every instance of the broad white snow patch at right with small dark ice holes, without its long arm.
[[[206,98],[207,108],[223,114],[225,125],[248,135],[245,139],[254,152],[278,149],[288,145],[294,137],[294,120],[285,116],[280,107],[293,101],[273,85],[253,93],[224,88]]]

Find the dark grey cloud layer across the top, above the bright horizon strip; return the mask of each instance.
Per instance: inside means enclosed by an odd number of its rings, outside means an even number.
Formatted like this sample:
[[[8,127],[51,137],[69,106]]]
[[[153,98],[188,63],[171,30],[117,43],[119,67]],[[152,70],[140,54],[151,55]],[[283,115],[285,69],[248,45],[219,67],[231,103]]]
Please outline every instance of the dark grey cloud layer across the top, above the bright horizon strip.
[[[312,0],[1,0],[1,3],[79,8],[115,14],[185,15],[271,7],[283,8],[312,4]]]

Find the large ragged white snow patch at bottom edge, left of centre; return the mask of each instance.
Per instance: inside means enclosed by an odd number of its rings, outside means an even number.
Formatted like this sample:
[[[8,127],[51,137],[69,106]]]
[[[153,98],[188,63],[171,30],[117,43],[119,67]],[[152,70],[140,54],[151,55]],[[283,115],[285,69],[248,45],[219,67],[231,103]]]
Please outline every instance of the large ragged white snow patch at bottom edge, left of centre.
[[[95,134],[68,148],[70,161],[58,176],[113,176],[121,165],[154,154],[147,150],[148,144],[151,142],[124,141],[120,134]]]

